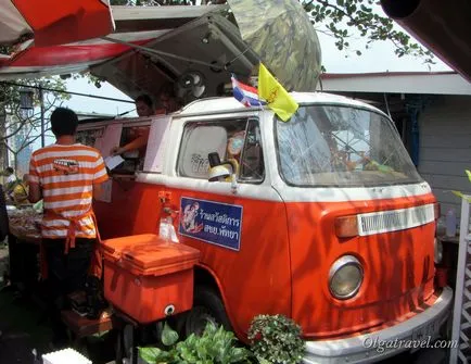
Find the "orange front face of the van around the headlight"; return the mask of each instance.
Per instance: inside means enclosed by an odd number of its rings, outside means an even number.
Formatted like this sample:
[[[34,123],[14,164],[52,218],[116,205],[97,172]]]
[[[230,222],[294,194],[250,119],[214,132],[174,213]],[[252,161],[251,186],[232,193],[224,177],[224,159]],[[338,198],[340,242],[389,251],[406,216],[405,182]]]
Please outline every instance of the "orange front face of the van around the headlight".
[[[427,194],[377,201],[287,203],[293,274],[292,317],[302,325],[306,337],[351,335],[420,311],[434,290],[435,224],[339,239],[334,219],[434,202],[434,197]],[[329,289],[329,269],[345,254],[360,261],[365,278],[354,298],[338,300]]]

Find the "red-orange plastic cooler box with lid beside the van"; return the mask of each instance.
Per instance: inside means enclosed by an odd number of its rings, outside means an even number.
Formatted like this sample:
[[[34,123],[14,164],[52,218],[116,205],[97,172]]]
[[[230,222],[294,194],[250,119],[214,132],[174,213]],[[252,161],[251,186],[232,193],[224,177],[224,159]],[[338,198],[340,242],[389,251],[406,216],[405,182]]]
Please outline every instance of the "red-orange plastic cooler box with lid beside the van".
[[[139,323],[191,310],[200,251],[153,234],[102,241],[104,297]]]

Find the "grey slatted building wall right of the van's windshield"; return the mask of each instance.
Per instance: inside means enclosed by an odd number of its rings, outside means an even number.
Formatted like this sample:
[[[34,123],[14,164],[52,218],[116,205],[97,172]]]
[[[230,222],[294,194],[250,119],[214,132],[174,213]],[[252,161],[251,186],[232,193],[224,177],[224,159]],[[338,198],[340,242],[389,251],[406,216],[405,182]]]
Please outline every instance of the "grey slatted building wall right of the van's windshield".
[[[442,214],[461,201],[449,192],[471,193],[464,170],[471,168],[471,96],[434,97],[419,116],[419,173],[432,186]]]

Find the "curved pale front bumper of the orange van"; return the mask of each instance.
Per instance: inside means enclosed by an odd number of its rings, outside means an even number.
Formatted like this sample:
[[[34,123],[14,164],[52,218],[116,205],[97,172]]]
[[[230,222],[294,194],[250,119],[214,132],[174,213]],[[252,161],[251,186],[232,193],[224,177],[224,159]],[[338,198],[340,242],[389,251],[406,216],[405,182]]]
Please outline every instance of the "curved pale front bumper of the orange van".
[[[372,363],[427,348],[448,318],[451,301],[453,290],[445,287],[432,306],[400,324],[345,339],[306,341],[303,363]]]

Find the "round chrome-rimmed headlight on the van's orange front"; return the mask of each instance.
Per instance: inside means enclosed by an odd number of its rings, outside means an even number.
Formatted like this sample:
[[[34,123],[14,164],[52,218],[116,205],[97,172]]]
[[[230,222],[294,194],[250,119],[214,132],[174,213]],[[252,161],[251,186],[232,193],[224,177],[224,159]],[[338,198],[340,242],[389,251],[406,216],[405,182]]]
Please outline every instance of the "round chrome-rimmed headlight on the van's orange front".
[[[329,289],[333,297],[345,300],[354,297],[364,281],[364,268],[353,255],[338,259],[329,272]]]

